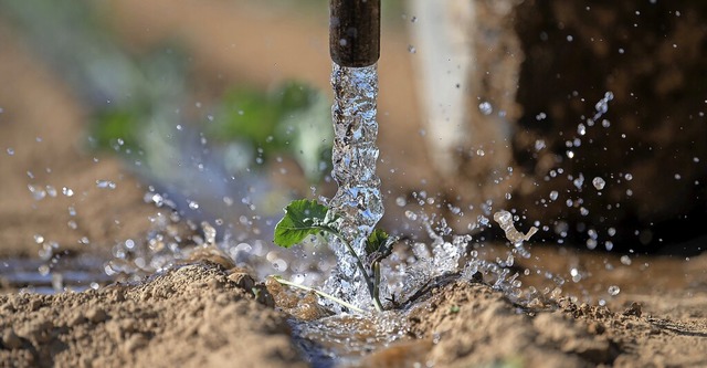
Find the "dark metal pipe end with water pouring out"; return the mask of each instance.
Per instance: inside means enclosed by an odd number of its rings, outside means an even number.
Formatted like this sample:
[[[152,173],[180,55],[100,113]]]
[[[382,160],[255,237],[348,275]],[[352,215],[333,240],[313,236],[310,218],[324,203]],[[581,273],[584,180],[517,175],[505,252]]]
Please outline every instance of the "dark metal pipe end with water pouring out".
[[[369,66],[380,56],[380,0],[330,0],[329,54],[341,66]]]

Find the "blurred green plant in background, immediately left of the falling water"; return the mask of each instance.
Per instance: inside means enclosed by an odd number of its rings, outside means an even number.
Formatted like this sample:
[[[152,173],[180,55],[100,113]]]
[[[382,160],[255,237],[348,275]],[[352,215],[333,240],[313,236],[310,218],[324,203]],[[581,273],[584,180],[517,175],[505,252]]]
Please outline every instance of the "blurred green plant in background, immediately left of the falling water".
[[[316,181],[331,170],[330,106],[320,91],[298,82],[271,92],[238,87],[222,98],[207,136],[238,144],[255,160],[289,156]]]

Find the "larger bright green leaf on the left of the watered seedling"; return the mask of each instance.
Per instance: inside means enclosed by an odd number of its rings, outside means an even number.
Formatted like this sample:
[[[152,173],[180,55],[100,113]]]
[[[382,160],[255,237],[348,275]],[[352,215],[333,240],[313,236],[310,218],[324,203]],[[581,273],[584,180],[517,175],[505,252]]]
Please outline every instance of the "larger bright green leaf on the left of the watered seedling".
[[[275,227],[275,244],[289,248],[320,231],[334,232],[328,225],[329,209],[316,200],[295,200],[285,208],[285,217]]]

